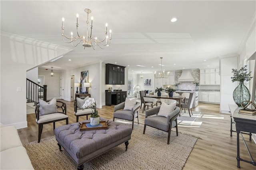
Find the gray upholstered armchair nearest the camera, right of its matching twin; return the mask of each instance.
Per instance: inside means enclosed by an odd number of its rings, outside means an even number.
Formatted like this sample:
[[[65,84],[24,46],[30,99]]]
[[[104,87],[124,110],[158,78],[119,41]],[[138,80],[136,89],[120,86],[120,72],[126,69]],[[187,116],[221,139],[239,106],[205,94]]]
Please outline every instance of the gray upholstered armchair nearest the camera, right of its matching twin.
[[[170,114],[168,114],[167,117],[162,117],[162,116],[156,115],[158,114],[160,107],[161,106],[153,107],[152,109],[149,109],[146,111],[143,134],[145,134],[146,126],[150,126],[150,127],[154,127],[154,128],[166,131],[168,132],[167,144],[169,144],[171,128],[176,127],[176,134],[178,136],[177,117],[180,115],[180,108],[176,106],[174,110]],[[150,117],[152,115],[156,115],[156,116]]]

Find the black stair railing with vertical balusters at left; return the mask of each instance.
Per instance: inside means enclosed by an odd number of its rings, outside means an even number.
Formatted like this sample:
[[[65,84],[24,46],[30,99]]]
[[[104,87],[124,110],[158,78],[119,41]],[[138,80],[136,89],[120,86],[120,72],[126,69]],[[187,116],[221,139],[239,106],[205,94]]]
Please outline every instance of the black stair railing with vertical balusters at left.
[[[39,85],[30,79],[27,79],[27,103],[39,102],[39,99],[46,101],[47,85]]]

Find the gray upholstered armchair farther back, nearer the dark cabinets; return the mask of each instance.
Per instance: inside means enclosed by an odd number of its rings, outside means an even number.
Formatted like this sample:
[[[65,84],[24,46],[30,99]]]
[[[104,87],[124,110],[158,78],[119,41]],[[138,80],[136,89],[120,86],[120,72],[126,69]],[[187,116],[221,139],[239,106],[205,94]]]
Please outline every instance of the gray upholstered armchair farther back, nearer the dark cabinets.
[[[136,118],[136,117],[138,118],[138,124],[139,124],[138,110],[140,108],[140,103],[136,102],[136,105],[134,105],[132,110],[124,110],[124,103],[125,102],[114,106],[113,121],[115,121],[115,118],[124,119],[124,120],[127,120],[127,121],[132,121],[132,129],[133,129],[134,118]]]

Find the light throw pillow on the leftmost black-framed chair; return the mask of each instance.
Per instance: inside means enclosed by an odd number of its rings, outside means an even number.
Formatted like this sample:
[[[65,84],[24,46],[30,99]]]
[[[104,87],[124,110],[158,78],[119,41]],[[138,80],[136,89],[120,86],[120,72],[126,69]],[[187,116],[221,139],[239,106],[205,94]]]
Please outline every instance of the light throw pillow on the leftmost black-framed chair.
[[[52,100],[46,102],[39,99],[39,115],[48,115],[51,113],[56,113],[57,111],[57,100],[53,98]]]

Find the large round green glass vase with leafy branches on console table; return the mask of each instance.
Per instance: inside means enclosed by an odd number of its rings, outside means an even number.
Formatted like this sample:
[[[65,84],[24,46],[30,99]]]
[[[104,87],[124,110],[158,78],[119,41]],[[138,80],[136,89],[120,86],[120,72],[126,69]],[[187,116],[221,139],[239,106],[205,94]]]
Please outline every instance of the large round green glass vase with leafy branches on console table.
[[[240,70],[232,69],[232,73],[234,73],[234,76],[231,77],[232,82],[239,81],[239,85],[233,92],[233,99],[236,105],[241,107],[241,103],[249,101],[251,97],[250,91],[244,85],[244,81],[250,81],[252,79],[251,71],[247,73],[247,65],[245,65],[244,67],[241,67]],[[243,104],[246,105],[247,102],[244,102]]]

